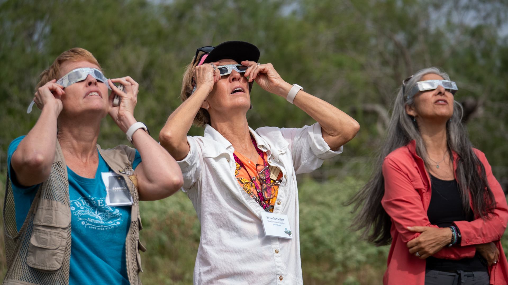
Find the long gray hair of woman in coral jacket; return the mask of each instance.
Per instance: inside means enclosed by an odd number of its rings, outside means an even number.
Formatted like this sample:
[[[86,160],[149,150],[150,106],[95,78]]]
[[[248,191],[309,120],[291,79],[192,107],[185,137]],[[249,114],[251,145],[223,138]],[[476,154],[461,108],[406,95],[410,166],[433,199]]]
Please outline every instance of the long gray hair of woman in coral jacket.
[[[426,74],[436,74],[445,80],[450,80],[448,74],[436,67],[430,67],[420,70],[410,79],[404,81],[404,86],[400,87],[397,98],[395,98],[387,137],[378,153],[372,176],[369,182],[346,202],[346,205],[355,204],[353,212],[360,209],[353,220],[352,229],[362,230],[362,236],[376,245],[389,244],[392,240],[390,235],[392,222],[381,205],[381,199],[385,194],[385,180],[382,172],[383,159],[392,151],[407,145],[411,140],[416,140],[416,152],[429,168],[425,143],[420,135],[418,125],[413,117],[405,111],[406,104],[414,104],[413,97],[407,96],[409,90]],[[453,157],[452,151],[456,152],[459,157],[456,174],[462,205],[466,213],[471,211],[470,194],[474,216],[484,219],[494,208],[494,196],[487,182],[485,167],[474,154],[467,131],[462,124],[461,104],[454,100],[453,109],[452,118],[447,122],[448,152],[450,157]],[[480,171],[478,171],[479,169]]]

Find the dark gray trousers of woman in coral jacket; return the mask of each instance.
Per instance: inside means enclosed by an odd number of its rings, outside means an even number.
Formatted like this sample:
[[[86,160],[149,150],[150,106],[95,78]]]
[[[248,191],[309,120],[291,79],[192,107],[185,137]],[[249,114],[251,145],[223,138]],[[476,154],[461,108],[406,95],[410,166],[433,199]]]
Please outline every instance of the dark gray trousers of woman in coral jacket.
[[[489,285],[489,272],[425,270],[425,285]]]

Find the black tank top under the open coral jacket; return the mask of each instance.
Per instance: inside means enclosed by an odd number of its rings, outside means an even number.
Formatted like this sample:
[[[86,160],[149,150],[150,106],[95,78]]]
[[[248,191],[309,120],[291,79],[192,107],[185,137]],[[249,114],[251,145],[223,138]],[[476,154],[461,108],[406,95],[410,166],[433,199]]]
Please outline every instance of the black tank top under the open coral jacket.
[[[474,219],[472,211],[469,211],[468,215],[464,213],[457,181],[440,180],[432,175],[430,177],[432,196],[429,209],[427,210],[430,223],[440,228],[445,228],[451,226],[455,221],[472,221]],[[473,258],[463,258],[460,260],[429,257],[427,258],[426,269],[439,271],[488,271],[487,262],[478,253]]]

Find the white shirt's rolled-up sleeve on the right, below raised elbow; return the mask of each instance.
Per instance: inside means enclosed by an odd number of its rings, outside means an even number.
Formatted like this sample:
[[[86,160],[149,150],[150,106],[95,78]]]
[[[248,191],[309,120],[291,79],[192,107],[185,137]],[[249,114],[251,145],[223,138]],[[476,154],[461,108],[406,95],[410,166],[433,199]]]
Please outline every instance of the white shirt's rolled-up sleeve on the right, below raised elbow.
[[[282,137],[289,142],[295,173],[308,173],[319,168],[325,159],[342,153],[342,147],[332,151],[323,139],[321,125],[303,128],[281,128]]]

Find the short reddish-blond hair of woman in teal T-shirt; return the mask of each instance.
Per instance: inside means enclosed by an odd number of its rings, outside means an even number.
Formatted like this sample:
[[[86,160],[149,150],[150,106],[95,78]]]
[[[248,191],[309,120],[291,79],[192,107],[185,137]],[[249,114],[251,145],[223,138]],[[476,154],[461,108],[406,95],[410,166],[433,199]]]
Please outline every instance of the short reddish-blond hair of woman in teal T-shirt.
[[[48,69],[44,70],[40,75],[40,81],[37,83],[37,86],[35,89],[39,89],[44,84],[48,83],[49,81],[53,79],[59,79],[61,72],[61,64],[67,60],[70,61],[88,61],[90,63],[93,63],[97,66],[99,66],[99,69],[101,68],[101,65],[97,61],[97,59],[91,54],[91,52],[82,49],[82,48],[72,48],[68,51],[62,52],[49,66]]]

